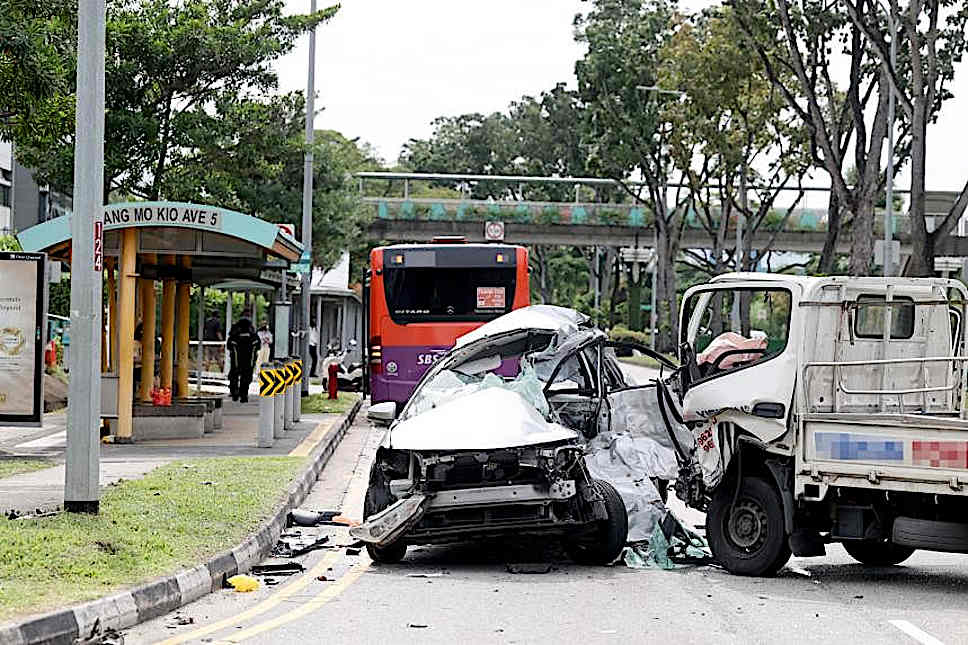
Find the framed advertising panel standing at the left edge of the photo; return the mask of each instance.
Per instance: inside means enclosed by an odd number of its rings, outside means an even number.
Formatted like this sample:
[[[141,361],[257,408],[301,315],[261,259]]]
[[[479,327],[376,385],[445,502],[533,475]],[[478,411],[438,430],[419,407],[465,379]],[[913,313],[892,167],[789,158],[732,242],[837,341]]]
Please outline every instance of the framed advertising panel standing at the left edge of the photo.
[[[41,423],[45,260],[0,253],[0,425]]]

